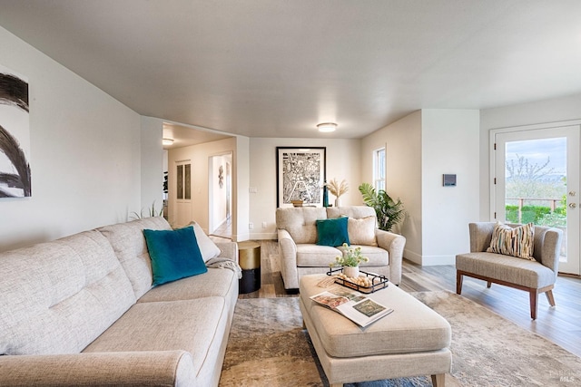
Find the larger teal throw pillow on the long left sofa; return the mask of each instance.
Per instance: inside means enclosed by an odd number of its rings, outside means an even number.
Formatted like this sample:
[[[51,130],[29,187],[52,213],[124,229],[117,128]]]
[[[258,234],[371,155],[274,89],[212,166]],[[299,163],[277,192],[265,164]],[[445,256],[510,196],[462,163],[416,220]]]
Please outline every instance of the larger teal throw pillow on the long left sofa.
[[[208,271],[193,227],[143,230],[152,259],[153,286]]]

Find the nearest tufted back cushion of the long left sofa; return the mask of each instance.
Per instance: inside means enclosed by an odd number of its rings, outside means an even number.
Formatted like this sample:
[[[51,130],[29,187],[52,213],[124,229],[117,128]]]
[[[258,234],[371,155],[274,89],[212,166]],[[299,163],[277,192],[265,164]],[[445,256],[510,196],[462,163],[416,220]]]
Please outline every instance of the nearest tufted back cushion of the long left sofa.
[[[0,354],[80,353],[135,303],[95,230],[0,254]]]

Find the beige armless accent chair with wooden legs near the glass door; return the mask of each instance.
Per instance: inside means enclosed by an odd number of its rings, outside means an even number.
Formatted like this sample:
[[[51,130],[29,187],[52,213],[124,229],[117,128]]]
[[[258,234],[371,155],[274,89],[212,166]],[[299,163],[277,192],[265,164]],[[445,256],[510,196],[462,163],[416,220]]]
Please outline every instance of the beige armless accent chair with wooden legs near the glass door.
[[[534,260],[487,252],[496,223],[478,222],[468,225],[470,253],[456,256],[456,293],[462,292],[463,276],[506,285],[529,293],[530,316],[537,319],[537,299],[547,295],[549,305],[555,306],[553,287],[559,264],[562,231],[549,227],[534,227]],[[517,227],[519,225],[509,225]]]

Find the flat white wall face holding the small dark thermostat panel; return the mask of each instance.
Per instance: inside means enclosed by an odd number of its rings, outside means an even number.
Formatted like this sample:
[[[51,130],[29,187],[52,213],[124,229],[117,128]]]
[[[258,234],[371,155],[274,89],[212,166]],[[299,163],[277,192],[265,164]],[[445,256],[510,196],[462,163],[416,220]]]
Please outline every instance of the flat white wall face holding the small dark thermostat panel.
[[[478,221],[478,110],[422,110],[422,265],[453,265]],[[442,175],[456,174],[456,187]]]

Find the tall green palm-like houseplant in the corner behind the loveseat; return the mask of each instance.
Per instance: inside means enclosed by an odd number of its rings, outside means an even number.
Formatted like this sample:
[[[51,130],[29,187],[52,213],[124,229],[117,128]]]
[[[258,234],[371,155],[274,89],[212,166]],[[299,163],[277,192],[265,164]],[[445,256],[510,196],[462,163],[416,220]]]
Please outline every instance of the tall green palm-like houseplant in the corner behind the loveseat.
[[[391,231],[391,227],[398,224],[405,216],[403,203],[401,200],[394,201],[389,197],[388,193],[379,189],[376,190],[369,183],[363,183],[359,186],[359,192],[363,196],[363,202],[375,209],[375,214],[378,217],[379,229]]]

